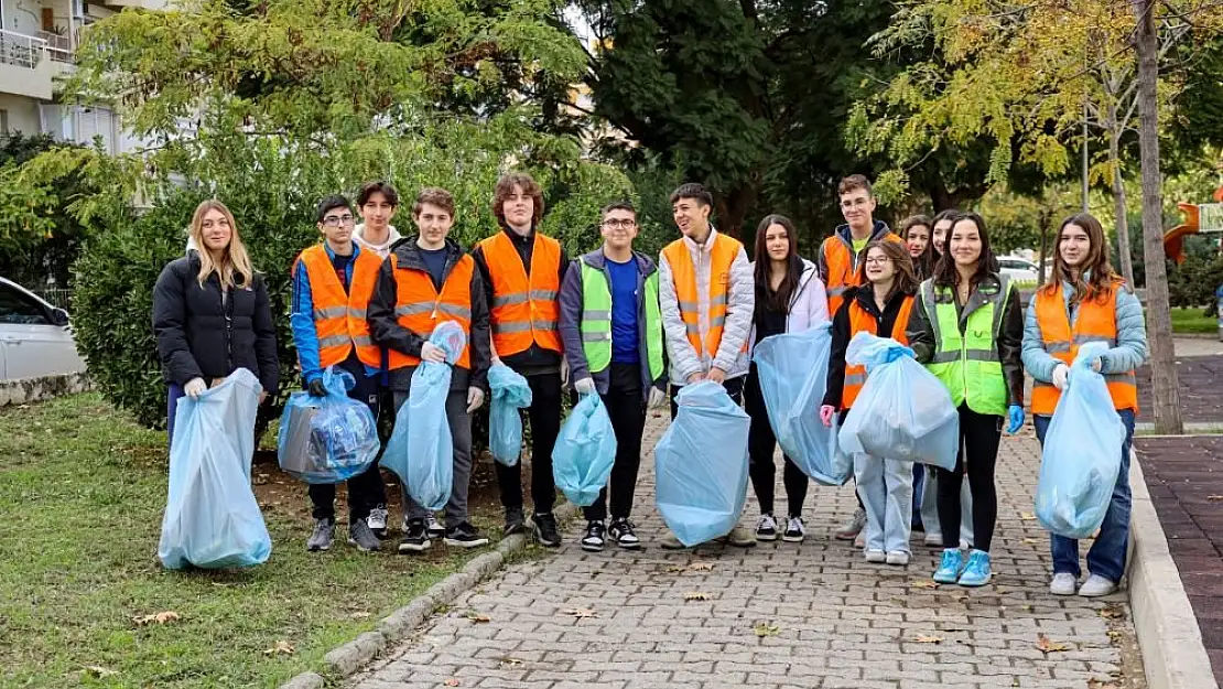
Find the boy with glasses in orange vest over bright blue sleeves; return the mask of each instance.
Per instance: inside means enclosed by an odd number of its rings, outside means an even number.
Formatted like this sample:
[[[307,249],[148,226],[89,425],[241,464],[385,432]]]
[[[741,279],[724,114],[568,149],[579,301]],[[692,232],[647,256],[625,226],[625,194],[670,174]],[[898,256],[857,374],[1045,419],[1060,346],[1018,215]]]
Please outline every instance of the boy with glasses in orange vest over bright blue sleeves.
[[[317,225],[324,241],[301,252],[294,263],[290,323],[309,394],[327,394],[323,370],[336,366],[357,382],[349,397],[369,405],[377,417],[383,350],[369,335],[366,310],[382,261],[352,241],[353,222],[345,197],[329,196],[319,203]],[[378,463],[349,480],[349,543],[361,551],[379,548],[368,519],[380,494]],[[335,486],[311,485],[309,498],[314,531],[306,547],[325,551],[335,532]]]

